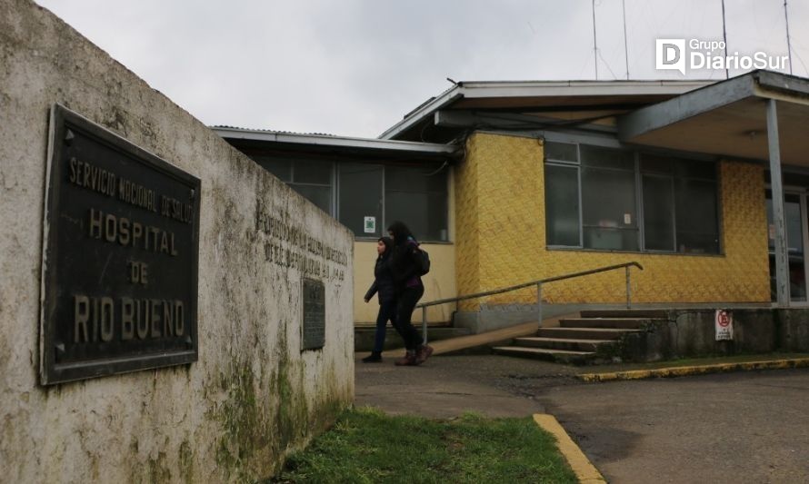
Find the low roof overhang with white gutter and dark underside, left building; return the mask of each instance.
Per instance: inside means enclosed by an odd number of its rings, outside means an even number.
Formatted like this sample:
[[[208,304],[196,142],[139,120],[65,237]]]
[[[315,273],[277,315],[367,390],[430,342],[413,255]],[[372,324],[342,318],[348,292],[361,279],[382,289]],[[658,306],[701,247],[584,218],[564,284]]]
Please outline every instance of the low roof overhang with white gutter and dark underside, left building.
[[[448,159],[460,154],[458,146],[449,144],[377,140],[327,134],[281,133],[220,126],[211,129],[228,143],[287,153],[362,154],[383,160]]]

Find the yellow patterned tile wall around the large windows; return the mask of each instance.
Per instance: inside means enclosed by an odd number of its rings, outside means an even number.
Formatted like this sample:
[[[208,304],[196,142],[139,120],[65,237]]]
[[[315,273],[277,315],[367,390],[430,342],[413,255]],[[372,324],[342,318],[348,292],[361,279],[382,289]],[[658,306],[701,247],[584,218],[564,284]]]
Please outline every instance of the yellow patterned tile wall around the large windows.
[[[770,300],[763,166],[721,163],[723,255],[560,251],[545,247],[542,140],[474,133],[466,148],[455,173],[459,294],[634,261],[644,266],[643,272],[633,269],[635,302]],[[623,270],[543,288],[549,303],[615,303],[625,297]],[[485,300],[534,301],[533,288]],[[479,302],[462,309],[474,311]]]

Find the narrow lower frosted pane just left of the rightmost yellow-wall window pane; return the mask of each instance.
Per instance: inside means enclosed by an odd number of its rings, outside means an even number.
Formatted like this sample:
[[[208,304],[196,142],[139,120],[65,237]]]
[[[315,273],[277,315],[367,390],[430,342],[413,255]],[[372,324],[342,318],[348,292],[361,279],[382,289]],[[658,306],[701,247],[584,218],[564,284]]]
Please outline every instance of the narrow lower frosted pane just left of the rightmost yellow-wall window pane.
[[[644,175],[644,237],[649,251],[674,251],[671,177]]]

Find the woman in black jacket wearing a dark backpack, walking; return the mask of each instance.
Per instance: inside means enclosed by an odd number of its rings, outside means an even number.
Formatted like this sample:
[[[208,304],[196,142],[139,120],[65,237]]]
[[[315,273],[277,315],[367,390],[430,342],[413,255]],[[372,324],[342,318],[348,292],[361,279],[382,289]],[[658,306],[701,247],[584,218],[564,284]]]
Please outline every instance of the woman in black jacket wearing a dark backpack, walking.
[[[388,267],[393,275],[396,291],[395,328],[405,340],[406,350],[405,358],[396,361],[396,365],[420,365],[433,354],[431,346],[421,344],[423,340],[410,322],[416,303],[424,295],[424,284],[418,270],[421,250],[413,233],[403,222],[393,222],[387,232],[394,240]]]

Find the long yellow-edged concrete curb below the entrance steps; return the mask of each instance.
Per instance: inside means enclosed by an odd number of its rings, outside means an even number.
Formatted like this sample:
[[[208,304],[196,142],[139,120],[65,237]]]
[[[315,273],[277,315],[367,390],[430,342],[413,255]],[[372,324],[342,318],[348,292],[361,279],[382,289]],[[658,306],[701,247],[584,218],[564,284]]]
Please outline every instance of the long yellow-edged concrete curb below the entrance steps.
[[[726,371],[749,370],[787,370],[791,368],[809,368],[809,358],[792,358],[788,360],[744,361],[738,363],[716,363],[711,365],[678,366],[672,368],[659,368],[656,370],[629,370],[610,371],[606,373],[583,373],[576,375],[579,380],[614,381],[614,380],[642,380],[646,378],[673,378],[689,375],[704,375],[707,373],[722,373]]]

